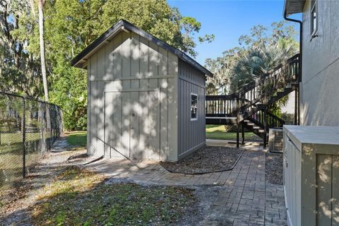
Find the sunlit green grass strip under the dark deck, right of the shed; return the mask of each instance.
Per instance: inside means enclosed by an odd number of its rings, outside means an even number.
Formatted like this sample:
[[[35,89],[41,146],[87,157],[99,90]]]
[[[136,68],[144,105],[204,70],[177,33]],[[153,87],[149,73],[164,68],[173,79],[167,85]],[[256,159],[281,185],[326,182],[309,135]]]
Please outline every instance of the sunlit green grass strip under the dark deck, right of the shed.
[[[237,133],[229,133],[225,131],[222,125],[206,125],[206,138],[220,140],[237,140]],[[239,138],[242,134],[239,133]],[[245,132],[245,141],[261,141],[261,138],[252,132]]]

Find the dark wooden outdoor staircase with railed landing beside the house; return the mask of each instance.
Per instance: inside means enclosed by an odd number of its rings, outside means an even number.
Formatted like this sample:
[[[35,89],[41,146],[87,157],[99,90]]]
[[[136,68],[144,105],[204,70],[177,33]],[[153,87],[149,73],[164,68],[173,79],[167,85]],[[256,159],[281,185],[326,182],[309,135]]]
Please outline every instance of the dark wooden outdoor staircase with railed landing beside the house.
[[[237,125],[268,141],[268,129],[282,127],[283,119],[269,112],[269,106],[293,91],[299,90],[299,54],[288,59],[269,73],[230,95],[206,95],[206,124]]]

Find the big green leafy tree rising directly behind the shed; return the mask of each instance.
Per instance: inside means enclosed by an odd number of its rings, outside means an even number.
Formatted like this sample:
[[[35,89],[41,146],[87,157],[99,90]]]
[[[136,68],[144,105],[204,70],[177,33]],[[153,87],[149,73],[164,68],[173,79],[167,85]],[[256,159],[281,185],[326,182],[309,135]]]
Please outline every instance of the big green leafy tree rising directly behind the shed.
[[[32,0],[24,2],[27,7],[32,5]],[[37,18],[28,9],[25,12],[25,20],[13,32],[18,40],[26,43],[25,52],[38,59]],[[197,54],[194,40],[211,42],[214,38],[205,35],[195,39],[201,23],[182,16],[165,0],[46,0],[44,42],[49,100],[63,109],[66,129],[85,129],[87,121],[87,74],[85,70],[71,67],[70,61],[120,19],[129,20],[193,57]],[[40,73],[40,69],[36,71]]]

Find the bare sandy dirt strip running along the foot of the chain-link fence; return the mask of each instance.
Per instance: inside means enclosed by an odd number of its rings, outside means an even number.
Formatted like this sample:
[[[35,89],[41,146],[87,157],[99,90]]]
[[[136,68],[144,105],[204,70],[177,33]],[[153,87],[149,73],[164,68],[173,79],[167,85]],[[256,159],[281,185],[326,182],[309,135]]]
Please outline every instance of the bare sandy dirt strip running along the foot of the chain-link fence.
[[[64,141],[64,138],[61,139]],[[63,146],[64,151],[59,147]],[[35,167],[30,168],[28,177],[17,186],[6,189],[1,187],[0,192],[0,225],[32,225],[30,223],[30,206],[36,202],[36,197],[44,193],[44,186],[52,182],[66,165],[71,155],[84,155],[86,150],[66,151],[64,142],[56,142],[52,150],[41,158]],[[88,162],[90,158],[81,158]],[[80,164],[81,162],[76,162]]]

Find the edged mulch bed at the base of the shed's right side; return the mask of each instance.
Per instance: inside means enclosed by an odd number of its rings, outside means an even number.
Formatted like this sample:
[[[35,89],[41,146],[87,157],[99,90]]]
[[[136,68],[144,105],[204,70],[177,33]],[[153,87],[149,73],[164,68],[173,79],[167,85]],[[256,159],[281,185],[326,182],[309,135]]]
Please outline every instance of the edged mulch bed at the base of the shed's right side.
[[[244,150],[205,146],[178,162],[160,162],[169,172],[203,174],[230,170],[242,156]]]

